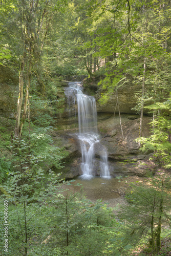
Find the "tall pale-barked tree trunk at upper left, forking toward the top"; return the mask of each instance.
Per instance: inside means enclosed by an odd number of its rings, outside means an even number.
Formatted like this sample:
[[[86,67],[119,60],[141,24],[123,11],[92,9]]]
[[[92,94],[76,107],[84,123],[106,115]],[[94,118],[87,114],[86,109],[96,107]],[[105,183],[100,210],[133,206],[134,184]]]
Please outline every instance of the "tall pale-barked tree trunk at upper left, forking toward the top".
[[[45,16],[47,15],[47,7],[49,5],[49,0],[47,0],[44,10],[37,19],[35,19],[36,14],[39,13],[38,3],[39,0],[36,1],[30,1],[30,8],[29,11],[25,5],[25,2],[23,1],[23,6],[21,8],[21,11],[23,12],[22,20],[20,20],[20,25],[23,28],[23,59],[20,66],[19,71],[19,96],[18,96],[18,103],[17,103],[17,113],[16,113],[16,122],[15,122],[15,138],[20,140],[22,136],[22,129],[23,125],[26,119],[26,113],[27,113],[27,104],[28,104],[28,97],[29,97],[29,89],[30,89],[30,83],[31,83],[31,67],[33,65],[33,61],[39,61],[42,48],[44,46],[44,41],[47,36],[47,31],[50,26],[50,20],[52,16],[48,19],[48,25],[45,28],[45,35],[42,34],[42,38],[40,37],[40,32],[42,30],[42,25],[44,23]],[[35,29],[36,28],[36,29]],[[36,32],[35,32],[36,31]],[[41,39],[41,40],[40,40]],[[41,41],[41,46],[39,46],[36,51],[34,51],[34,46],[38,46],[38,42]],[[33,49],[31,49],[31,46]],[[39,55],[34,52],[38,52]],[[32,53],[32,54],[31,54]],[[32,56],[33,55],[33,56]],[[36,60],[35,60],[36,59]],[[24,90],[24,72],[25,72],[25,66],[26,66],[26,96],[25,96],[25,102],[24,102],[24,110],[23,110],[23,116],[20,120],[20,116],[22,113],[22,103],[23,103],[23,90]],[[44,83],[40,79],[40,84],[42,88],[44,88]]]

